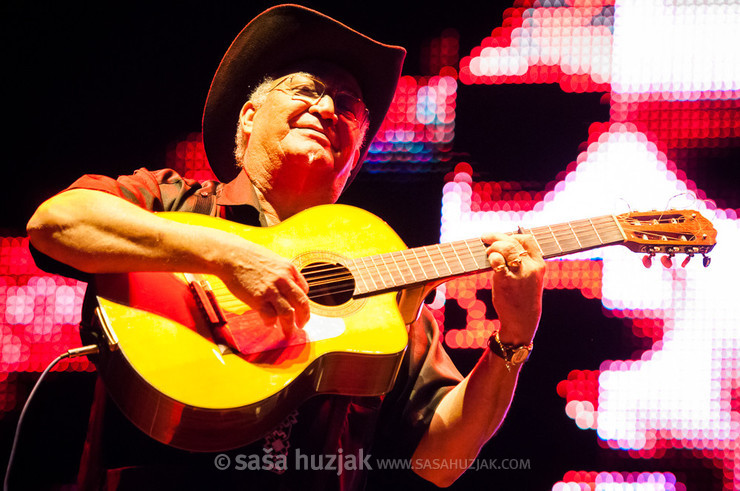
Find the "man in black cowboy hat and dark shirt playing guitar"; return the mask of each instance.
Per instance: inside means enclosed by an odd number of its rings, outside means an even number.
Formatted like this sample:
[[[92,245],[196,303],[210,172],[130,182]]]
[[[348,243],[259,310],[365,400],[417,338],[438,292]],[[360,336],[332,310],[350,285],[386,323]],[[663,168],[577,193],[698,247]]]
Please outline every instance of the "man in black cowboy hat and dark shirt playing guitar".
[[[142,169],[118,180],[85,176],[42,204],[29,221],[39,263],[57,272],[65,271],[63,263],[79,277],[208,273],[285,336],[303,328],[311,315],[308,285],[288,260],[238,236],[175,223],[151,211],[183,210],[274,225],[306,208],[335,202],[380,127],[404,53],[302,7],[278,6],[260,14],[226,53],[205,107],[206,153],[226,184],[184,180],[171,170]],[[485,241],[501,330],[467,377],[452,366],[431,316],[422,312],[409,327],[400,373],[384,398],[314,397],[239,452],[290,448],[336,456],[377,450],[417,462],[473,459],[511,402],[539,322],[544,272],[531,237],[493,234]],[[88,302],[83,333],[89,312]],[[135,450],[127,450],[130,445]],[[214,479],[257,489],[291,489],[309,482],[314,489],[357,489],[367,478],[362,469],[218,472],[213,459],[166,448],[139,434],[100,392],[81,479],[83,487],[120,489],[195,488]],[[444,486],[462,467],[423,465],[415,471]]]

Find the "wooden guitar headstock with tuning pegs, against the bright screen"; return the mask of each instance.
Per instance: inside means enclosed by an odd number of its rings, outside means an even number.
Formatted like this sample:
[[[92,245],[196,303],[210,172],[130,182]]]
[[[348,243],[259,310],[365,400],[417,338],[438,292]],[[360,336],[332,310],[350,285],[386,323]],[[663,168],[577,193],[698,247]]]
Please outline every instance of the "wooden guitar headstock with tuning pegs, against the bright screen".
[[[717,243],[717,231],[698,211],[667,210],[625,213],[617,220],[627,238],[624,245],[649,257],[655,254],[706,254]],[[647,264],[646,264],[647,265]]]

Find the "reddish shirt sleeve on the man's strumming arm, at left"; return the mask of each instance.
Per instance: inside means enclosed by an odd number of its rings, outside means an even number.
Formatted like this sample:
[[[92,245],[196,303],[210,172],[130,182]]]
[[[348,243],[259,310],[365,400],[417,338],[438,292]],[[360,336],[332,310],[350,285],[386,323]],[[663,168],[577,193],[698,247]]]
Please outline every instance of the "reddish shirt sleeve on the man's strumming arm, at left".
[[[113,179],[87,174],[67,189],[102,191],[129,201],[149,211],[187,211],[214,215],[216,213],[216,181],[198,182],[186,179],[172,169],[150,171],[141,168],[129,176]],[[89,281],[88,274],[52,259],[29,244],[36,265],[47,273],[59,274],[80,281]]]

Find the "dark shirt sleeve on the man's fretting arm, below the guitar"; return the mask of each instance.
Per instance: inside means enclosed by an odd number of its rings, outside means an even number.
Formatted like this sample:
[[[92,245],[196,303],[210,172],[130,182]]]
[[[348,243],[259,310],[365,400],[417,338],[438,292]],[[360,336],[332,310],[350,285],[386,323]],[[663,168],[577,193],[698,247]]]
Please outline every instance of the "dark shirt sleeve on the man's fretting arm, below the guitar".
[[[379,453],[410,458],[442,398],[463,377],[442,346],[439,326],[426,307],[409,328],[409,345],[396,384],[380,413]]]

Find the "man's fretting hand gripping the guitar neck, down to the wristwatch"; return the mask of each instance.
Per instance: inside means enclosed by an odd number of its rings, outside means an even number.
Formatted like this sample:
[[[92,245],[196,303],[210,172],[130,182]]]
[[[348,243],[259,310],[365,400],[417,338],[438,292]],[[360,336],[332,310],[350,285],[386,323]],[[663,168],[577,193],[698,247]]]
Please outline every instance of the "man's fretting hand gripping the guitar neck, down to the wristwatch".
[[[531,235],[492,233],[481,238],[493,268],[493,306],[501,341],[528,344],[542,313],[545,261]]]

